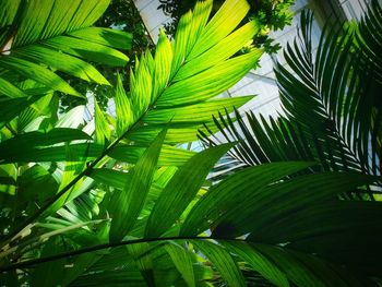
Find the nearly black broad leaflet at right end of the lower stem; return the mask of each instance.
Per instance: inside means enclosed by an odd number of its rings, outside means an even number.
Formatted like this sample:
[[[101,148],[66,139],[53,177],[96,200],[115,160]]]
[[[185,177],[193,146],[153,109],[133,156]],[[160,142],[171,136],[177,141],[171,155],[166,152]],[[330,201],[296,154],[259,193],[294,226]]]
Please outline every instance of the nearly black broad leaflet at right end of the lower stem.
[[[372,268],[381,252],[365,249],[365,246],[382,239],[382,228],[378,224],[381,214],[381,202],[311,204],[287,219],[277,218],[270,227],[262,228],[263,238],[270,242],[266,238],[274,236],[275,241],[288,241],[295,250],[314,253],[338,264],[362,264],[363,268]],[[249,237],[249,240],[253,238]]]

